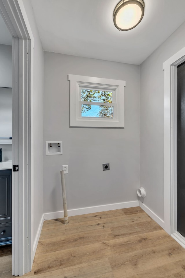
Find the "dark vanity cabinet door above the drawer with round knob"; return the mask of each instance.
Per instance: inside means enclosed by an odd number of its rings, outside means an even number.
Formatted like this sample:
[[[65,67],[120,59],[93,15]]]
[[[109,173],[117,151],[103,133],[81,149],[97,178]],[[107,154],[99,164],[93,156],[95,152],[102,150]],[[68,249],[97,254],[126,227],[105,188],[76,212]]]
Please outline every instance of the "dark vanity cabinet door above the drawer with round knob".
[[[12,171],[0,171],[0,224],[12,222]]]

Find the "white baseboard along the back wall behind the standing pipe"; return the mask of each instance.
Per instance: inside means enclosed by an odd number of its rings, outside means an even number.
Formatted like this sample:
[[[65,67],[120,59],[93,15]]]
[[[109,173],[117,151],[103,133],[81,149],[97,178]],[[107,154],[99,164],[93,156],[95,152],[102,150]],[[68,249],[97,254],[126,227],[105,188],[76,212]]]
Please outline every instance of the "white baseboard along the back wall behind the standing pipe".
[[[90,206],[87,208],[80,208],[80,209],[69,209],[68,216],[82,215],[87,213],[96,213],[101,211],[112,211],[114,209],[126,209],[126,208],[132,208],[134,206],[139,206],[139,201],[123,202],[123,203],[108,204],[108,205],[101,205],[101,206]],[[64,217],[64,211],[44,213],[44,220],[51,220],[51,219],[62,218],[62,217]]]

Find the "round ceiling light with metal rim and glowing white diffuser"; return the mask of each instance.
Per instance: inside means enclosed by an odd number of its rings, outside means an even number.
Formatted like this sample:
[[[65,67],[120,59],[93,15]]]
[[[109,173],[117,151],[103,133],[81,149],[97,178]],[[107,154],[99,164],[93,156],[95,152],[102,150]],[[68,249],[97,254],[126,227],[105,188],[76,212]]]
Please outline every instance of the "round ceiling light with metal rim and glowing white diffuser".
[[[121,0],[114,9],[114,25],[121,31],[131,30],[143,19],[144,10],[143,0]]]

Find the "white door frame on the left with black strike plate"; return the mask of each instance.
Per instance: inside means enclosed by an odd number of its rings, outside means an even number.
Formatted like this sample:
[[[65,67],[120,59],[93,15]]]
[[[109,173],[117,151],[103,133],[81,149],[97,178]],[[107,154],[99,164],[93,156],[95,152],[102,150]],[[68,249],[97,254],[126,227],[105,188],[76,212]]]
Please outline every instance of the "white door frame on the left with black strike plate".
[[[12,275],[33,263],[33,51],[34,38],[22,0],[0,0],[12,35]]]

